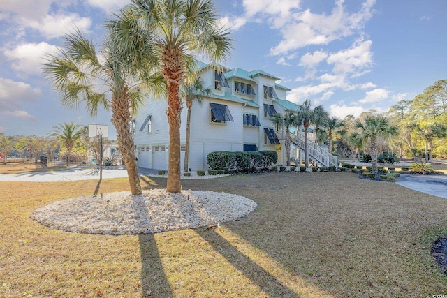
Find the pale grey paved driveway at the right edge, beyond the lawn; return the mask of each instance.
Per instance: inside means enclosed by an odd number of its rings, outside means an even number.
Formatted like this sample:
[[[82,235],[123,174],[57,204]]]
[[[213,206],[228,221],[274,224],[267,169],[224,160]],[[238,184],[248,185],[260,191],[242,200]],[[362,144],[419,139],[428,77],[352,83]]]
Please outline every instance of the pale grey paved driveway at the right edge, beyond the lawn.
[[[447,199],[447,175],[400,174],[396,183],[415,191]]]

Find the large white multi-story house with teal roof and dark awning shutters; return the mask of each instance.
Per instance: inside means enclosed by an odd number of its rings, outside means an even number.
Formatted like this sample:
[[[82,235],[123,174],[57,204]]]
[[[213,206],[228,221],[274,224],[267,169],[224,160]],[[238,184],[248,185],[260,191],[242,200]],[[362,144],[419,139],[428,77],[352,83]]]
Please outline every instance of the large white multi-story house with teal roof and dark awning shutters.
[[[290,89],[277,84],[279,78],[263,70],[230,70],[203,63],[198,67],[200,80],[211,93],[195,101],[191,109],[189,168],[207,169],[207,154],[212,151],[274,150],[278,164],[284,165],[284,131],[281,126],[275,127],[271,119],[274,114],[298,109],[298,105],[286,100]],[[140,116],[133,120],[138,167],[168,169],[167,108],[166,100],[149,98]],[[186,107],[181,121],[183,169]]]

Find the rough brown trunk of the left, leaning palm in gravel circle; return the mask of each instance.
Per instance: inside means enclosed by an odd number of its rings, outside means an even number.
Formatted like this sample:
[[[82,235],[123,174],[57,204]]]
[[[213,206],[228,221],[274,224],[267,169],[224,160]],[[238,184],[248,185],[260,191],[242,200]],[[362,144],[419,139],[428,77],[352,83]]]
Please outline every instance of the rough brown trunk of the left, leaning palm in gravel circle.
[[[132,195],[141,195],[140,177],[135,161],[135,143],[131,133],[131,103],[128,90],[124,87],[122,96],[112,96],[112,124],[117,130],[118,148],[126,165],[127,176],[131,186]]]

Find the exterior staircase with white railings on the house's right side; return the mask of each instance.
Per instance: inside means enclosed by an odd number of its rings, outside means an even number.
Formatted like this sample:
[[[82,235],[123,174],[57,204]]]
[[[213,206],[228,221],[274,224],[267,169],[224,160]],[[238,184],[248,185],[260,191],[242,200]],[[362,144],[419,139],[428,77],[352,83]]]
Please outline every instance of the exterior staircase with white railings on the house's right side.
[[[293,133],[290,134],[291,143],[300,149],[304,154],[305,135],[299,131],[296,133],[296,135]],[[314,161],[317,165],[322,167],[337,167],[337,156],[333,156],[327,149],[309,140],[309,137],[307,137],[307,149],[309,149],[309,159],[312,159],[312,161]]]

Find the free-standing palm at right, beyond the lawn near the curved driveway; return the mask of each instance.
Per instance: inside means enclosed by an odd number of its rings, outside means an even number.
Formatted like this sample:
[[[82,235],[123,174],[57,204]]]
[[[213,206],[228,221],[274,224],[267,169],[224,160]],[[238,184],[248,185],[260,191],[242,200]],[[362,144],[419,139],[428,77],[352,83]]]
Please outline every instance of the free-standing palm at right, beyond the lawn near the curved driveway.
[[[356,121],[356,128],[363,142],[371,144],[372,172],[377,173],[377,151],[379,137],[387,139],[397,135],[397,128],[390,125],[390,121],[376,114],[367,115],[363,121]]]

